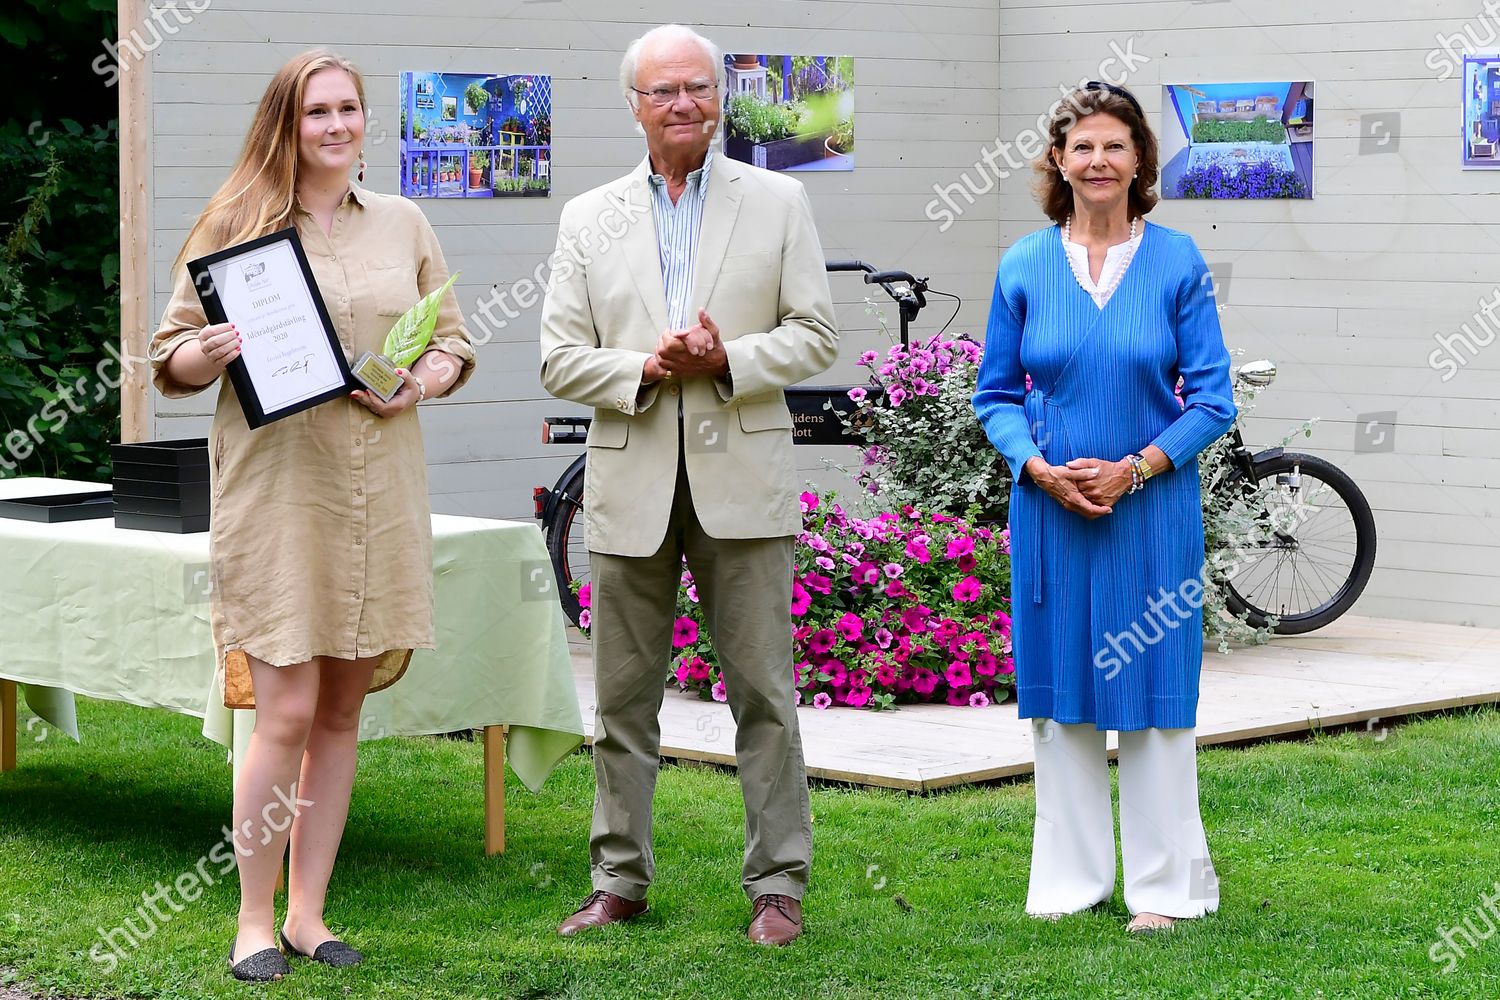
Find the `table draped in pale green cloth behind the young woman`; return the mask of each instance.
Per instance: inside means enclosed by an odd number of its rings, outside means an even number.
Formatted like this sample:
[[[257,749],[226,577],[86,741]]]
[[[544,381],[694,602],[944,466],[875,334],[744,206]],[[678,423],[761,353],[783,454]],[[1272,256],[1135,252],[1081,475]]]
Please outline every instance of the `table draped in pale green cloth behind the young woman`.
[[[0,480],[0,499],[105,486]],[[484,732],[486,850],[504,850],[504,762],[536,792],[584,742],[552,565],[536,525],[432,517],[436,651],[370,694],[360,738]],[[0,517],[0,771],[15,768],[16,693],[80,739],[74,694],[202,718],[238,760],[255,712],[214,676],[208,535],[116,528],[108,517]],[[15,627],[24,622],[24,628]]]

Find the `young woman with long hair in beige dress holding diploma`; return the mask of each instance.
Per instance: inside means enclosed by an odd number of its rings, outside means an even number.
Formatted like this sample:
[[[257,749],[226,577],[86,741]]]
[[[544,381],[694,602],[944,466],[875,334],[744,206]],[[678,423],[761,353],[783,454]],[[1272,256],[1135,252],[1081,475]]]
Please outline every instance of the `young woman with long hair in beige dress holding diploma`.
[[[294,226],[350,358],[380,352],[394,321],[447,280],[422,211],[363,180],[364,87],[346,60],[288,61],[255,111],[230,178],[177,261],[152,340],[168,397],[219,387],[210,432],[212,618],[225,703],[255,708],[234,789],[240,870],[237,979],[290,972],[291,957],[350,966],[362,955],[324,922],[350,808],[364,694],[430,649],[432,526],[416,405],[462,385],[474,366],[458,297],[400,391],[364,391],[252,430],[224,378],[240,355],[232,324],[208,324],[183,261]],[[294,804],[294,805],[288,805]],[[288,813],[291,814],[288,822]],[[288,853],[286,915],[274,891]]]

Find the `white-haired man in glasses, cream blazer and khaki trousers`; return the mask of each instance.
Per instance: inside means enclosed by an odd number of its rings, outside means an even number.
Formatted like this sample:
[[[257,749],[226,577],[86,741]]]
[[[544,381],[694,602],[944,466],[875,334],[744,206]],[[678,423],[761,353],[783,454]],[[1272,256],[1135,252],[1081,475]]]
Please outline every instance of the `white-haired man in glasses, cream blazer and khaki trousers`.
[[[826,369],[838,334],[802,186],[711,151],[723,79],[718,48],[682,25],[630,45],[621,88],[648,156],[562,208],[542,312],[543,385],[594,406],[594,892],[566,936],[646,909],[684,556],[735,718],[748,934],[784,945],[802,925],[812,817],[789,612],[801,513],[782,390]]]

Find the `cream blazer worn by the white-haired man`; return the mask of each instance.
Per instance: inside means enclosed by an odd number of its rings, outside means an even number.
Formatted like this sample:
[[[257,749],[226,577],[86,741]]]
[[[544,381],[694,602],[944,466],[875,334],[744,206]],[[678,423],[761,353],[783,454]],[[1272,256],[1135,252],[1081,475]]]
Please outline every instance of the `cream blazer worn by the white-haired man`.
[[[650,160],[562,208],[542,307],[542,384],[594,408],[584,510],[592,552],[648,556],[666,535],[686,450],[693,507],[714,538],[796,534],[801,511],[783,388],[838,355],[813,211],[790,177],[716,156],[693,301],[718,324],[729,378],[640,390],[668,328]],[[681,420],[678,414],[681,412]]]

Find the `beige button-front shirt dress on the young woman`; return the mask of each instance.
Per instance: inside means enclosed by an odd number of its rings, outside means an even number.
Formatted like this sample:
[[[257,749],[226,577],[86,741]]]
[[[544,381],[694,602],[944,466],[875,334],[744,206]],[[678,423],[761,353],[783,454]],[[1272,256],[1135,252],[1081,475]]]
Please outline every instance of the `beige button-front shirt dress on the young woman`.
[[[302,237],[350,360],[376,354],[396,319],[448,279],[432,226],[405,198],[351,187],[332,234],[298,210]],[[186,268],[152,339],[156,387],[183,397],[166,358],[207,325]],[[474,369],[458,295],[432,346]],[[224,700],[254,708],[246,655],[274,666],[382,655],[372,691],[394,684],[412,649],[432,649],[432,520],[417,408],[390,420],[334,399],[252,430],[219,378],[208,436],[213,493],[213,637]]]

